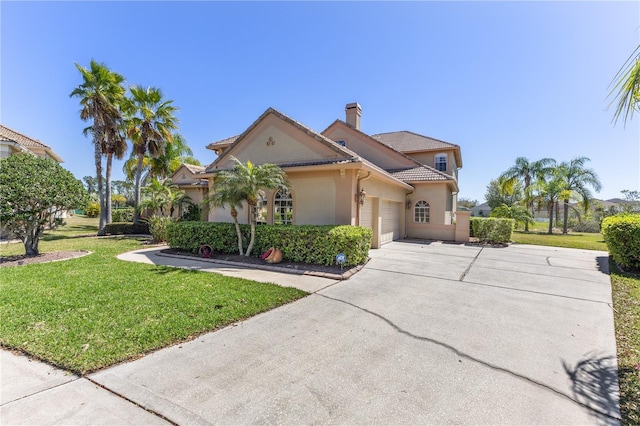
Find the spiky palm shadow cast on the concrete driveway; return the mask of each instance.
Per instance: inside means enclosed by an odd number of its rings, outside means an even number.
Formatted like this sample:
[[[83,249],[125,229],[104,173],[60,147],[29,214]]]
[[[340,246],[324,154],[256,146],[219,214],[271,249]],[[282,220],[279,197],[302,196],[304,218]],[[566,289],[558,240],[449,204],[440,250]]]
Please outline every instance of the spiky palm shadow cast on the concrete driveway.
[[[576,401],[591,408],[600,422],[618,424],[620,419],[618,368],[615,356],[587,354],[575,366],[562,362],[571,379]]]

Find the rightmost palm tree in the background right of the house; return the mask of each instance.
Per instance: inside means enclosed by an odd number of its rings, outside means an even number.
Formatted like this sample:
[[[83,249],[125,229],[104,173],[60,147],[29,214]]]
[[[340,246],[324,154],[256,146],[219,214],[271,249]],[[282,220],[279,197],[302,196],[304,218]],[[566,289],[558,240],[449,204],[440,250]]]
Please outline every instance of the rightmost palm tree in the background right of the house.
[[[567,233],[567,223],[569,221],[569,198],[571,195],[578,195],[582,199],[584,211],[589,209],[589,201],[591,200],[591,192],[589,186],[593,187],[596,192],[600,192],[602,184],[598,179],[598,175],[592,169],[584,167],[589,160],[587,157],[576,157],[570,162],[562,162],[558,166],[558,171],[562,180],[564,180],[564,223],[562,233]]]

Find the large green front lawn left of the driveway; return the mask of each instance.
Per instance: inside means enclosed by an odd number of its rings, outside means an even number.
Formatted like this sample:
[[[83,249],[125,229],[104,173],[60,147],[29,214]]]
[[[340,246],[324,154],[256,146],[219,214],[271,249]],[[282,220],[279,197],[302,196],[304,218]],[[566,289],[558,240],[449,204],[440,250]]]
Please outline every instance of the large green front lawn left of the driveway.
[[[0,344],[76,373],[192,339],[306,294],[218,274],[120,261],[117,254],[141,248],[142,240],[71,238],[89,225],[71,226],[74,229],[63,227],[47,235],[40,251],[92,254],[0,268]],[[23,253],[22,244],[2,244],[0,252]]]

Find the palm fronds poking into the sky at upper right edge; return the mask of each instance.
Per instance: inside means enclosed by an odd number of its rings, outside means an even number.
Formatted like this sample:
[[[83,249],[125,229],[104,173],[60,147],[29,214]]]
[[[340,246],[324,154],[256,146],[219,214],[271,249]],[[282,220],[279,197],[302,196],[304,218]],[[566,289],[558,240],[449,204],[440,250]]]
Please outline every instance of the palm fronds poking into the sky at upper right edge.
[[[615,98],[618,100],[613,120],[617,122],[620,116],[624,116],[624,124],[626,125],[627,119],[633,117],[634,111],[640,110],[640,45],[622,65],[611,84],[613,88],[609,96],[617,92]]]

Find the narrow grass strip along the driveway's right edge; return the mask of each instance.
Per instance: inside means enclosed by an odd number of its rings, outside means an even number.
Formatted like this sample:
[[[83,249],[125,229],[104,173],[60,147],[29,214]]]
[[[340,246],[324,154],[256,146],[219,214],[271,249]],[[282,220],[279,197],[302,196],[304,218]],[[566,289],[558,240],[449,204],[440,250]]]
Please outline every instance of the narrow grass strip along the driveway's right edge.
[[[640,275],[621,272],[613,261],[613,293],[622,423],[640,424]]]

